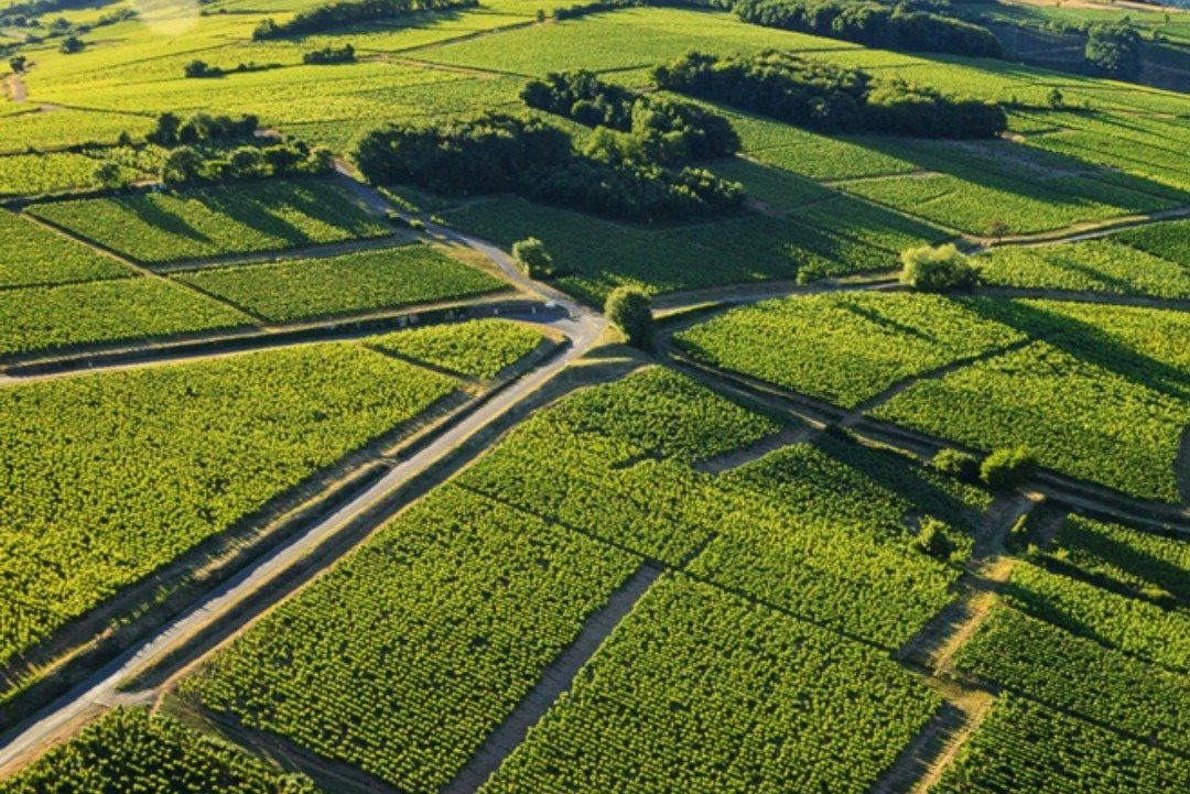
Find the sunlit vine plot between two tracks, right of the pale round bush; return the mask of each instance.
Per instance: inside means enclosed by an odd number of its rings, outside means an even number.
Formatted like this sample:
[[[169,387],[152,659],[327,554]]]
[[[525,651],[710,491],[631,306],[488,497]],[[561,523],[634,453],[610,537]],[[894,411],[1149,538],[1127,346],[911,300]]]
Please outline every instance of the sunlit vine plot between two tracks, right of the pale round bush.
[[[994,285],[1190,297],[1190,269],[1127,245],[1121,238],[1029,248],[1004,246],[992,248],[975,264],[982,281]]]

